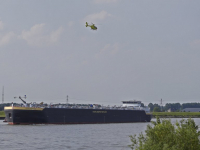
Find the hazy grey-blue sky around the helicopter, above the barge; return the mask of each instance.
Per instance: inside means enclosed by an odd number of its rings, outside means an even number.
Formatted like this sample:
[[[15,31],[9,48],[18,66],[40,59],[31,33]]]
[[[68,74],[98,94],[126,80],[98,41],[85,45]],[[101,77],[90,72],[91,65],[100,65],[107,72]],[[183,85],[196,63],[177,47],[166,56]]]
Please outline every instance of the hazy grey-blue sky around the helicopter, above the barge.
[[[0,2],[5,103],[200,102],[199,0]]]

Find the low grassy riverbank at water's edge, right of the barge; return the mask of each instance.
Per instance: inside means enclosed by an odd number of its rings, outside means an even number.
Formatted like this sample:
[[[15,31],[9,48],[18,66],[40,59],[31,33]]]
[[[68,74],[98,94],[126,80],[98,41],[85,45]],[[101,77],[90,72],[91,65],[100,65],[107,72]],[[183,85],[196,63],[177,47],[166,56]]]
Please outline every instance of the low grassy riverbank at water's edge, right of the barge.
[[[200,118],[200,112],[152,112],[153,118]]]

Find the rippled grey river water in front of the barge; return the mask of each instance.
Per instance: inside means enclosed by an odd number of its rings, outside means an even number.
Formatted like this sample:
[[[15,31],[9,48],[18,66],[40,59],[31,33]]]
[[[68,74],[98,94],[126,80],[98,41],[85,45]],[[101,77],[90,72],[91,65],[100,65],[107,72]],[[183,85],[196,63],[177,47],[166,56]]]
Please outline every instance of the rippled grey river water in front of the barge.
[[[200,118],[194,120],[200,126]],[[147,124],[8,125],[0,120],[0,149],[130,150],[129,135],[144,133]]]

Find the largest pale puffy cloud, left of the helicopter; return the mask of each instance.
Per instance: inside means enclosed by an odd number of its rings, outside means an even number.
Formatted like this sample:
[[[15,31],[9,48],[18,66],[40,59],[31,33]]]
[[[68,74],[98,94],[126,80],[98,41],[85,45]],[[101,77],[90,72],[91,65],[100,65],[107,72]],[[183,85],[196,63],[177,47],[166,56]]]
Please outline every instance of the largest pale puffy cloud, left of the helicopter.
[[[45,29],[45,24],[36,24],[29,31],[22,31],[19,38],[24,39],[28,45],[33,46],[50,46],[56,44],[64,29],[62,27],[55,31],[47,32]]]

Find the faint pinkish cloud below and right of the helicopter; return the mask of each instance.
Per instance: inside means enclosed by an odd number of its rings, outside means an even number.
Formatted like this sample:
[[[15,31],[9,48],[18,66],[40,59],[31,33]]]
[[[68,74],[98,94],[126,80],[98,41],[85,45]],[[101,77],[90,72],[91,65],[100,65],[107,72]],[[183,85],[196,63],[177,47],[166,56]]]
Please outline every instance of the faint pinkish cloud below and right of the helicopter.
[[[119,44],[115,43],[113,45],[106,44],[98,54],[95,55],[96,58],[99,58],[101,56],[105,55],[115,55],[119,52]]]

